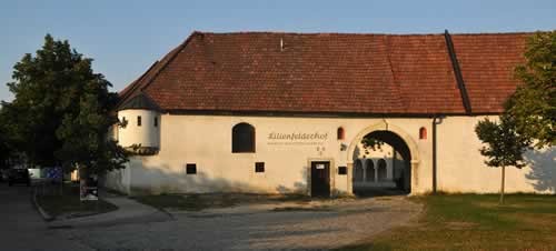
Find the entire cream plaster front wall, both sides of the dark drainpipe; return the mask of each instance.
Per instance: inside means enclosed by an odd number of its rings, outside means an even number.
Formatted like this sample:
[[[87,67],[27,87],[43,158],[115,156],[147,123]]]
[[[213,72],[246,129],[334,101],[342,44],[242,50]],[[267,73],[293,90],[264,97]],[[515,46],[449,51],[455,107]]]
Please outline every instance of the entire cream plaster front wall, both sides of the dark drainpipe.
[[[123,113],[122,113],[123,114]],[[120,118],[122,114],[119,114]],[[128,127],[133,127],[138,113],[126,113]],[[143,116],[143,126],[148,116]],[[151,117],[152,118],[152,117]],[[498,192],[499,170],[484,164],[478,152],[480,142],[474,127],[481,118],[448,117],[438,128],[438,190],[447,192]],[[231,128],[247,122],[256,128],[256,153],[231,153]],[[129,190],[135,192],[307,192],[310,160],[331,161],[331,184],[338,193],[351,191],[351,177],[337,174],[338,167],[350,165],[357,155],[348,157],[340,145],[358,144],[354,139],[366,133],[373,124],[385,123],[398,128],[411,141],[411,193],[430,192],[431,119],[360,119],[360,118],[284,118],[232,116],[171,116],[162,114],[160,151],[156,155],[133,157],[129,163]],[[336,139],[338,127],[345,129],[345,140]],[[418,139],[419,128],[427,129],[427,139]],[[126,128],[129,130],[132,128]],[[126,133],[130,133],[127,131]],[[327,133],[326,140],[271,140],[276,133]],[[120,139],[121,139],[121,131]],[[143,132],[138,132],[143,133]],[[146,139],[145,134],[126,134],[123,142]],[[120,141],[121,142],[121,141]],[[507,170],[509,192],[554,192],[556,174],[554,150],[548,155],[535,155],[544,172],[543,183],[534,179],[532,168]],[[414,154],[415,153],[415,154]],[[355,154],[355,152],[354,152]],[[265,172],[255,172],[255,162],[265,162]],[[186,174],[186,164],[196,163],[197,174]],[[377,163],[375,163],[377,164]],[[391,164],[391,163],[389,163]],[[553,167],[553,169],[549,169]],[[537,171],[536,175],[540,175]],[[126,177],[126,175],[123,175]],[[389,172],[389,177],[391,173]],[[550,187],[552,185],[552,187]],[[544,188],[544,189],[543,189]],[[548,189],[546,189],[548,188]]]

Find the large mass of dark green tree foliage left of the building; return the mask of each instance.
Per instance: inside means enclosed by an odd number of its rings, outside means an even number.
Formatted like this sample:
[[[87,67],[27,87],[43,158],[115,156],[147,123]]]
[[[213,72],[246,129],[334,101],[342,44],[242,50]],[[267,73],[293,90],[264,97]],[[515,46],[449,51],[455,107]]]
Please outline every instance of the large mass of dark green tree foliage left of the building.
[[[117,96],[91,62],[68,41],[47,34],[36,56],[28,53],[13,67],[14,82],[8,86],[14,100],[3,103],[7,128],[30,164],[123,168],[127,154],[107,138],[117,121],[109,113]]]

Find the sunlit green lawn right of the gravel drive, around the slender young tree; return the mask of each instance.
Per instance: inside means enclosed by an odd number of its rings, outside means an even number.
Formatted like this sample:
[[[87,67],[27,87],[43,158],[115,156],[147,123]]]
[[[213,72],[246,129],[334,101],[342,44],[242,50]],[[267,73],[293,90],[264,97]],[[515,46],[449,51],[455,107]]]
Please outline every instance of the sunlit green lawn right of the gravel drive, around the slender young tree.
[[[420,220],[340,250],[556,250],[556,195],[414,198]]]

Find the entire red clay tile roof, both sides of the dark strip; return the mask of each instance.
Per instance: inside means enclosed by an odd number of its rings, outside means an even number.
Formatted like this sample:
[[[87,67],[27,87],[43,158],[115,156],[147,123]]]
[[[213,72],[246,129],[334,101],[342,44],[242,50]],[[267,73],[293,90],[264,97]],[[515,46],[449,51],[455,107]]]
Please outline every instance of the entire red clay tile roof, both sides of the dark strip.
[[[453,36],[474,112],[502,111],[528,34]],[[138,93],[169,111],[465,113],[444,34],[193,32],[120,97]]]

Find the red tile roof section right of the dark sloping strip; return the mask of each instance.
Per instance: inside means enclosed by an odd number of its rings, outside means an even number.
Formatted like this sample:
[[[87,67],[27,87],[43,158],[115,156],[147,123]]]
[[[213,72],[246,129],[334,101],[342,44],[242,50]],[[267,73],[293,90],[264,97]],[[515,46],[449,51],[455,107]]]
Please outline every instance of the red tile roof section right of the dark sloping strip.
[[[502,112],[519,83],[514,69],[524,62],[530,33],[454,34],[451,39],[473,111]]]

